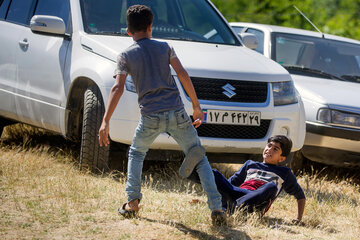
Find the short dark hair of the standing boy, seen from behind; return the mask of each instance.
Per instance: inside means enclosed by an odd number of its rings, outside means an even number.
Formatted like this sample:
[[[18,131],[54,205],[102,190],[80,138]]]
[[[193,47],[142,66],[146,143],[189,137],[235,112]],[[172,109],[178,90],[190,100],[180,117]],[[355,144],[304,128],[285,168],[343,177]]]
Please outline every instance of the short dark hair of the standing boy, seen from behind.
[[[126,11],[126,24],[132,34],[146,32],[153,19],[153,12],[145,5],[132,5]]]

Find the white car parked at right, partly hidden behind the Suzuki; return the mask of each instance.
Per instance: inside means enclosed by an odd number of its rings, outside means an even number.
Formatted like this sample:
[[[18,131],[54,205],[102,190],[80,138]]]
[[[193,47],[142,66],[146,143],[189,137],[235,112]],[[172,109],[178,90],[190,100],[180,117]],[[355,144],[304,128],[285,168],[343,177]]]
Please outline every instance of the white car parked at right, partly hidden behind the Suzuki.
[[[254,34],[257,52],[285,67],[305,106],[302,154],[339,167],[360,166],[360,42],[314,31],[230,23]]]

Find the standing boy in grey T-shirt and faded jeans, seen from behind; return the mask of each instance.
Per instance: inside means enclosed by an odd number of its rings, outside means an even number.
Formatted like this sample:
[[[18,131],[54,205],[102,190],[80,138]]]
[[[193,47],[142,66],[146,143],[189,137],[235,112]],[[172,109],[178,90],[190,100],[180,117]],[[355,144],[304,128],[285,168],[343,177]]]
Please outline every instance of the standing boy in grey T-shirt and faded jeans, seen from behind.
[[[108,145],[109,120],[124,91],[127,74],[130,74],[138,94],[141,119],[129,150],[126,183],[128,202],[119,209],[119,213],[124,217],[132,217],[139,211],[142,198],[141,174],[146,152],[155,138],[166,132],[177,141],[186,155],[180,174],[186,177],[196,170],[208,197],[213,224],[222,225],[226,218],[221,208],[221,195],[195,130],[204,120],[204,114],[189,75],[171,46],[151,39],[153,13],[150,8],[143,5],[129,7],[126,21],[127,33],[135,43],[118,56],[115,84],[110,91],[99,130],[100,145]],[[184,110],[169,64],[191,99],[195,119],[193,123]]]

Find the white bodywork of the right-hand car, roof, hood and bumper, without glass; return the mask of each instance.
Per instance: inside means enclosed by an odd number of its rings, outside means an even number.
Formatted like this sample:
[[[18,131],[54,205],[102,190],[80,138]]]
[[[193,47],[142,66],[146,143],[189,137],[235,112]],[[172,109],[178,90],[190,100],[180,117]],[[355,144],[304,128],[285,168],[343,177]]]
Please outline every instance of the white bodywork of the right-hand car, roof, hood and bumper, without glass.
[[[358,45],[354,39],[339,37],[331,34],[322,35],[319,32],[287,28],[257,23],[230,23],[232,27],[256,29],[264,33],[264,55],[273,56],[271,50],[274,45],[271,34],[286,33],[294,36],[310,36],[318,39],[331,39]],[[323,38],[324,37],[324,38]],[[359,64],[359,63],[358,63]],[[360,126],[358,128],[335,126],[318,120],[318,110],[330,108],[347,113],[360,113],[360,84],[358,82],[341,81],[326,77],[291,74],[296,89],[299,91],[306,112],[307,133],[302,149],[303,154],[310,160],[336,166],[360,166]],[[318,150],[318,152],[316,152]],[[344,157],[351,158],[346,160]]]

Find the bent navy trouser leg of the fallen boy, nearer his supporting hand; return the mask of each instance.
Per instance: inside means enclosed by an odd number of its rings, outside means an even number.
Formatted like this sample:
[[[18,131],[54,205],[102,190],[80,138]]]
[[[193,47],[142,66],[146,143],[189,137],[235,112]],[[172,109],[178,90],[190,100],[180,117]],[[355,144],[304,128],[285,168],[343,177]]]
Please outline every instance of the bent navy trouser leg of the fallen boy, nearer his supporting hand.
[[[262,211],[269,205],[270,200],[275,198],[277,190],[274,183],[265,183],[258,189],[250,191],[245,196],[237,199],[236,206],[239,209],[245,208],[249,212],[254,210]]]

